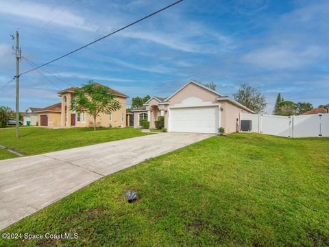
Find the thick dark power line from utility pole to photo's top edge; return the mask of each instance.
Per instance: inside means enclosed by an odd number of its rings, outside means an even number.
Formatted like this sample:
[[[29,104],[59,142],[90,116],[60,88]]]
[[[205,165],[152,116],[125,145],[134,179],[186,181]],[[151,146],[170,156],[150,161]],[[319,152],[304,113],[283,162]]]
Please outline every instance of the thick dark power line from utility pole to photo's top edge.
[[[49,62],[46,62],[45,64],[42,64],[42,65],[40,65],[40,66],[38,66],[38,67],[35,67],[34,69],[30,69],[29,71],[25,71],[25,72],[21,73],[19,76],[24,75],[24,74],[26,74],[26,73],[29,73],[29,72],[31,72],[31,71],[34,71],[34,70],[36,70],[36,69],[39,69],[40,67],[44,67],[44,66],[46,66],[47,64],[51,64],[51,62],[55,62],[55,61],[57,61],[57,60],[60,60],[61,58],[64,58],[64,57],[66,57],[66,56],[69,56],[69,55],[75,53],[76,51],[80,51],[81,49],[84,49],[84,48],[88,47],[89,45],[93,45],[94,43],[97,43],[98,41],[103,40],[104,38],[107,38],[108,36],[111,36],[111,35],[113,35],[113,34],[116,34],[117,32],[120,32],[120,31],[122,31],[122,30],[125,30],[127,27],[130,27],[130,26],[132,26],[132,25],[135,25],[136,23],[139,23],[139,22],[141,22],[141,21],[144,21],[145,19],[147,19],[147,18],[149,18],[149,17],[151,17],[151,16],[154,16],[155,14],[158,14],[159,12],[162,12],[162,11],[164,11],[164,10],[167,10],[167,8],[171,8],[173,5],[176,5],[176,4],[178,4],[178,3],[182,2],[182,1],[183,1],[183,0],[175,1],[175,3],[171,3],[170,5],[167,5],[166,7],[162,8],[162,9],[160,9],[160,10],[157,10],[156,12],[153,12],[153,13],[151,13],[151,14],[148,14],[147,16],[144,16],[143,18],[138,19],[137,21],[134,21],[133,23],[130,23],[130,24],[128,24],[128,25],[125,25],[124,27],[119,28],[119,30],[115,30],[114,32],[111,32],[110,34],[107,34],[106,36],[103,36],[103,37],[101,37],[101,38],[98,38],[97,40],[94,40],[93,42],[90,42],[90,43],[88,43],[87,45],[84,45],[84,46],[82,46],[82,47],[80,47],[80,48],[77,48],[77,49],[75,49],[75,50],[73,50],[73,51],[70,51],[69,53],[64,54],[63,56],[60,56],[60,57],[55,58],[55,59],[53,59],[53,60],[51,60],[51,61],[49,61]]]

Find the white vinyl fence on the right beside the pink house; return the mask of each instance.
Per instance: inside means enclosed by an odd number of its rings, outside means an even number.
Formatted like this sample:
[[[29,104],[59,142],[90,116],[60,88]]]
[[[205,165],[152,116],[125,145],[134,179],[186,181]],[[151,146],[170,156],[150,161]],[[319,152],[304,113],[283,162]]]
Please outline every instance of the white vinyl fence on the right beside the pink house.
[[[329,114],[276,116],[241,113],[241,120],[251,120],[251,132],[279,137],[329,137]]]

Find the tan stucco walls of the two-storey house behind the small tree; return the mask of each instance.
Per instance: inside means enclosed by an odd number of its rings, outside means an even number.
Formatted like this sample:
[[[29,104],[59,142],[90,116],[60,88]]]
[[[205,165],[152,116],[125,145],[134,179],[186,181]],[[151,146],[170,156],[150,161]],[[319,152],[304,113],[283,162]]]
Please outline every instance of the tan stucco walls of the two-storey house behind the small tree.
[[[64,97],[67,97],[67,110],[66,113],[68,115],[67,121],[65,121],[65,101]],[[70,110],[71,99],[73,97],[73,93],[64,93],[62,94],[62,116],[61,116],[61,124],[60,126],[71,126],[71,114],[75,113]],[[121,108],[112,112],[112,119],[110,120],[110,114],[99,114],[96,118],[97,127],[125,127],[126,126],[126,98],[125,97],[115,97],[115,99],[121,104]],[[123,117],[123,119],[122,119]],[[93,127],[94,119],[92,116],[85,113],[84,121],[77,121],[77,113],[75,113],[75,127]]]

